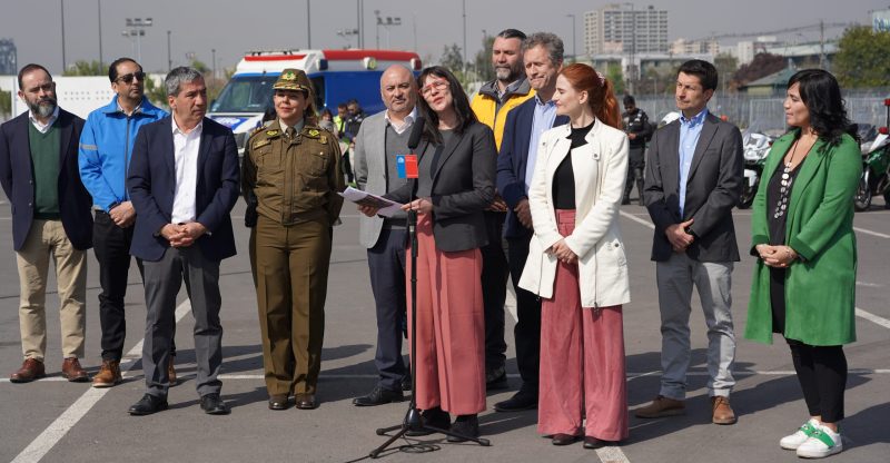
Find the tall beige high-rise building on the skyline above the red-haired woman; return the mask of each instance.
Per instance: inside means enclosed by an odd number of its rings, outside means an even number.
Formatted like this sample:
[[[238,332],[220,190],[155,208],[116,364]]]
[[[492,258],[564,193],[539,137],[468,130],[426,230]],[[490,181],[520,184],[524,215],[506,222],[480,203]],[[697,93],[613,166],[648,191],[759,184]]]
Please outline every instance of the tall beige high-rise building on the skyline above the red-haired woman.
[[[602,53],[663,53],[668,51],[668,10],[606,4],[584,13],[584,49]]]

